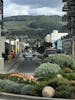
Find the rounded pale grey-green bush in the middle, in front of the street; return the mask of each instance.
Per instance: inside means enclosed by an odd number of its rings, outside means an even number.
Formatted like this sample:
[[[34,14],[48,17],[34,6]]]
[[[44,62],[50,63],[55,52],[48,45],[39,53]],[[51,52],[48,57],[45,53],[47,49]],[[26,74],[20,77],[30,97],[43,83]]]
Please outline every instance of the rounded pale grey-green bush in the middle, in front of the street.
[[[51,63],[43,63],[35,70],[35,76],[37,77],[45,77],[52,74],[59,73],[61,68],[57,64],[51,64]]]

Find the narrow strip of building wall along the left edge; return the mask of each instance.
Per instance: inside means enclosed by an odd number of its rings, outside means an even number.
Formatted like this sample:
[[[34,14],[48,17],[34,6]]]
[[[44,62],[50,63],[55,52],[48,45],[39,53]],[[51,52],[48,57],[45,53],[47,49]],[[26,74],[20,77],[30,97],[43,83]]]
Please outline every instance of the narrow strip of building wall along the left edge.
[[[5,38],[1,36],[3,31],[3,0],[0,0],[0,72],[4,73],[4,59],[2,53],[5,52]]]

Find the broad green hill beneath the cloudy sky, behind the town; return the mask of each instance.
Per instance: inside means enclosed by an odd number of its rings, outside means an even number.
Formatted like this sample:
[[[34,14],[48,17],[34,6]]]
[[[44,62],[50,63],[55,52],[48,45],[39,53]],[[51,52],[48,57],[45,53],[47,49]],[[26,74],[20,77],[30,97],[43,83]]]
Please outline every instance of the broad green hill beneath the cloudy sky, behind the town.
[[[12,16],[4,18],[4,28],[11,35],[28,35],[30,38],[44,38],[53,30],[62,32],[60,16]],[[10,33],[11,32],[11,33]]]

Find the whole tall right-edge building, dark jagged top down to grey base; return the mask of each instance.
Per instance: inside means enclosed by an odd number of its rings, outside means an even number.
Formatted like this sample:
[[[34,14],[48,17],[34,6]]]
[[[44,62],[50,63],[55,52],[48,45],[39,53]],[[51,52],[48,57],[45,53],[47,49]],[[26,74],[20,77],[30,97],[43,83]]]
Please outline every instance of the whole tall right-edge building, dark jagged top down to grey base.
[[[75,58],[75,0],[62,0],[64,7],[62,8],[66,14],[63,20],[67,21],[64,28],[68,30],[68,36],[63,38],[64,53]]]

